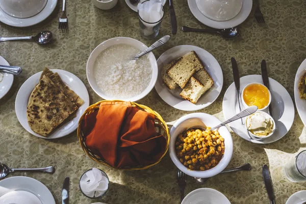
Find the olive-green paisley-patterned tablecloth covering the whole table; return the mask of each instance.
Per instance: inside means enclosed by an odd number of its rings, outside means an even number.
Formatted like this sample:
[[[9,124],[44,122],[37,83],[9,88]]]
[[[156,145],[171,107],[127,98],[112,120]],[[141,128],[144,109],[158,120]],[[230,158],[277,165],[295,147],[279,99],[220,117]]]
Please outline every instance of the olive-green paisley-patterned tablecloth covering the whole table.
[[[101,42],[118,36],[132,37],[150,45],[155,40],[140,36],[137,13],[123,0],[115,8],[103,11],[95,8],[91,0],[68,1],[69,32],[58,30],[59,3],[55,12],[45,21],[29,28],[13,28],[0,23],[1,36],[29,36],[43,30],[54,33],[54,43],[38,45],[34,42],[11,41],[0,43],[0,55],[11,65],[21,66],[23,73],[14,78],[9,93],[0,100],[0,162],[11,167],[44,167],[54,165],[54,174],[14,173],[41,181],[60,203],[61,189],[65,176],[70,176],[70,203],[167,203],[180,202],[176,184],[176,167],[167,154],[154,167],[147,170],[115,170],[99,165],[81,149],[77,133],[62,139],[45,140],[25,131],[15,114],[15,98],[22,83],[44,67],[64,69],[77,75],[86,85],[91,104],[101,100],[90,88],[86,78],[86,62],[92,50]],[[215,115],[224,120],[222,99],[225,90],[233,83],[231,57],[238,61],[241,76],[260,74],[260,62],[266,59],[269,77],[281,83],[294,98],[294,78],[299,64],[306,57],[306,4],[303,0],[264,0],[261,8],[266,24],[258,24],[253,17],[254,3],[250,16],[240,26],[241,35],[226,40],[217,35],[183,33],[180,28],[187,25],[205,28],[189,10],[186,0],[174,1],[179,30],[171,40],[154,52],[158,58],[167,49],[182,44],[202,47],[219,62],[224,76],[222,92],[209,107],[197,112]],[[170,34],[168,6],[159,37]],[[179,111],[168,106],[152,90],[138,101],[159,112],[165,121],[172,121],[191,112]],[[286,160],[306,149],[305,129],[295,111],[295,120],[289,133],[281,140],[267,145],[247,142],[234,134],[234,154],[228,167],[246,162],[251,171],[219,174],[206,184],[198,185],[188,180],[186,193],[197,188],[214,188],[222,192],[233,204],[269,203],[262,179],[262,166],[269,164],[276,203],[285,203],[288,197],[306,190],[306,183],[289,182],[283,168]],[[89,199],[79,189],[79,179],[84,171],[97,167],[107,172],[110,188],[102,199]]]

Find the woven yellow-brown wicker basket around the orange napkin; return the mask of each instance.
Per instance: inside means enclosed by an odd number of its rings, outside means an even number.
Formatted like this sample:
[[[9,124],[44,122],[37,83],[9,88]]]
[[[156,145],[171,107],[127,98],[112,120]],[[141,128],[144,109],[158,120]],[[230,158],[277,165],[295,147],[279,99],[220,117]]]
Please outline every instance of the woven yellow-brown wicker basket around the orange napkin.
[[[101,103],[104,103],[104,102],[123,102],[122,100],[101,100],[99,101],[98,103],[96,104],[93,104],[91,106],[89,106],[86,111],[84,112],[84,114],[82,115],[82,117],[80,118],[80,121],[79,121],[79,126],[78,126],[78,138],[79,138],[79,141],[80,141],[80,144],[83,148],[83,150],[86,152],[86,154],[91,158],[93,159],[94,161],[100,163],[100,164],[104,164],[104,165],[107,165],[107,166],[110,166],[103,158],[100,158],[99,156],[95,155],[87,146],[86,146],[86,143],[85,143],[85,137],[84,137],[84,134],[81,130],[81,124],[84,120],[84,117],[94,111],[96,111],[97,109],[99,109],[99,106]],[[137,107],[139,108],[140,110],[143,110],[143,111],[146,111],[148,113],[151,113],[155,116],[155,129],[156,129],[156,132],[163,135],[165,138],[166,138],[166,149],[165,149],[165,152],[164,154],[161,156],[161,158],[154,164],[150,164],[150,165],[147,165],[147,166],[138,166],[138,167],[133,167],[133,168],[129,168],[129,167],[126,167],[126,168],[120,168],[120,169],[126,169],[126,170],[139,170],[139,169],[146,169],[146,168],[149,168],[151,166],[154,166],[156,165],[157,163],[159,163],[162,158],[166,155],[166,152],[168,150],[168,146],[169,146],[169,140],[170,140],[170,137],[169,137],[169,131],[168,131],[168,126],[166,124],[166,122],[163,120],[163,118],[160,116],[160,114],[158,114],[157,112],[153,111],[152,109],[150,109],[149,107],[146,107],[144,105],[139,105],[139,104],[136,104],[134,102],[131,101],[131,105],[132,107]],[[110,166],[110,167],[113,167],[113,166]],[[113,167],[113,168],[116,168],[116,167]]]

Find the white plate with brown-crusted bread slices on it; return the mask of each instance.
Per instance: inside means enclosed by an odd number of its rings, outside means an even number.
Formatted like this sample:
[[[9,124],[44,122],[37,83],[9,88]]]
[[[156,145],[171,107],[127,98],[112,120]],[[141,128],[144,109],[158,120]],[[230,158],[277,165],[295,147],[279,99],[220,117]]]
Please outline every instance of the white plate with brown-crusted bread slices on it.
[[[205,49],[179,45],[157,60],[159,74],[155,89],[170,106],[196,111],[211,105],[223,86],[222,69]]]

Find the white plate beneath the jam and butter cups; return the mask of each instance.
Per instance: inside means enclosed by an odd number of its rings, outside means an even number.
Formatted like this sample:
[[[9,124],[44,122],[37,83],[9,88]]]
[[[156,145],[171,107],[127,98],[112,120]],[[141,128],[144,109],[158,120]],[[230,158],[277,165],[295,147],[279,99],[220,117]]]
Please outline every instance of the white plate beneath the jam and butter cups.
[[[247,75],[240,78],[240,91],[249,83],[261,83],[263,80],[261,75]],[[290,130],[294,120],[294,105],[288,91],[278,82],[269,78],[270,92],[272,95],[272,111],[273,119],[275,120],[276,130],[274,134],[264,140],[253,140],[249,138],[245,125],[241,124],[241,120],[228,123],[228,126],[239,135],[241,138],[259,144],[267,144],[275,142],[284,137]],[[243,108],[243,107],[242,107]],[[239,112],[236,86],[234,83],[226,90],[222,104],[223,114],[225,119],[229,119]]]

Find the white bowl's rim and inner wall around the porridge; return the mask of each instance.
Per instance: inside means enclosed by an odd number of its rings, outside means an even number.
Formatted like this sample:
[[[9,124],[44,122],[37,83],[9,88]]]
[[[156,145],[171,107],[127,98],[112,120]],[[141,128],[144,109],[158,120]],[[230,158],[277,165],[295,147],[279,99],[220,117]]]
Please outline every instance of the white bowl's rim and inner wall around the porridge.
[[[103,52],[103,50],[105,50],[106,48],[115,45],[115,44],[127,44],[126,41],[130,41],[130,42],[135,42],[133,43],[133,46],[140,48],[140,47],[144,47],[145,49],[148,48],[143,42],[136,40],[134,38],[129,38],[129,37],[115,37],[115,38],[110,38],[108,40],[105,40],[104,42],[101,42],[99,45],[97,45],[92,52],[90,53],[90,56],[87,60],[86,63],[86,77],[87,77],[87,81],[90,85],[90,87],[93,89],[93,91],[100,96],[103,99],[106,100],[115,100],[115,99],[120,99],[120,100],[125,100],[125,101],[138,101],[140,99],[142,99],[143,97],[145,97],[147,94],[149,94],[151,92],[151,90],[155,87],[155,84],[157,82],[157,78],[158,78],[158,65],[157,65],[157,60],[156,57],[154,56],[154,54],[152,52],[148,53],[147,56],[149,56],[149,61],[150,61],[150,65],[152,68],[152,75],[151,75],[151,80],[150,83],[148,84],[148,86],[138,95],[130,97],[130,98],[115,98],[115,97],[111,97],[108,96],[106,94],[104,94],[102,92],[102,90],[100,90],[99,88],[94,88],[94,79],[92,79],[89,74],[90,74],[90,70],[93,70],[93,66],[94,66],[94,62],[96,60],[93,59],[93,55],[95,53],[98,52],[98,49],[102,46],[104,46],[106,43],[110,43],[114,41],[113,44],[111,45],[107,45],[105,46],[99,53]],[[125,42],[124,42],[125,41]],[[132,45],[132,44],[131,44]],[[90,63],[92,62],[92,65],[90,65]]]

